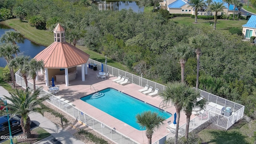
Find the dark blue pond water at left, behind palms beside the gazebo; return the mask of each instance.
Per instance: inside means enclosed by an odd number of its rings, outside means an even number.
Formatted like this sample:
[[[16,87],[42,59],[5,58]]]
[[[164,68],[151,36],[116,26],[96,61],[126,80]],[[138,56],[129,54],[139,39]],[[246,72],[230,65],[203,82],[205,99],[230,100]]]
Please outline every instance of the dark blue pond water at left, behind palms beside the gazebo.
[[[0,36],[2,36],[2,34],[4,34],[8,30],[14,30],[14,29],[11,29],[7,26],[0,24]],[[20,53],[18,55],[23,54],[26,56],[30,56],[31,58],[34,58],[36,54],[38,54],[44,48],[46,48],[45,46],[40,46],[38,44],[35,44],[34,42],[29,41],[28,39],[25,39],[24,43],[23,44],[20,43],[18,44],[18,46],[20,47]],[[5,67],[6,64],[7,64],[6,60],[3,57],[0,58],[0,67]]]

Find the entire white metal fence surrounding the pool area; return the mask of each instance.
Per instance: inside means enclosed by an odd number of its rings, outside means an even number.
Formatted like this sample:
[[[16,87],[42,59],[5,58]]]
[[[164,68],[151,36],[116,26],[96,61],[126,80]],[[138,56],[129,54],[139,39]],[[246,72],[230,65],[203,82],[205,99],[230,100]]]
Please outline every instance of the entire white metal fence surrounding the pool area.
[[[92,60],[92,59],[89,59],[89,60],[90,60],[90,64],[96,64],[97,68],[99,67],[98,69],[101,69],[100,68],[101,64],[102,64],[101,62],[98,62],[98,61]],[[137,85],[142,86],[142,87],[144,87],[146,84],[148,84],[149,86],[152,86],[154,89],[159,88],[160,92],[165,90],[165,86],[162,85],[162,84],[158,84],[158,83],[153,82],[151,80],[147,80],[147,79],[142,78],[140,76],[136,76],[134,74],[131,74],[129,72],[119,70],[119,69],[114,68],[112,66],[108,66],[108,65],[106,66],[105,64],[103,64],[103,70],[105,72],[109,72],[111,75],[116,76],[116,77],[118,75],[128,77],[129,82],[131,82],[133,84],[137,84]],[[26,86],[25,86],[24,80],[23,80],[22,76],[20,75],[19,71],[15,74],[15,76],[16,76],[16,83],[20,84],[22,87],[25,88]],[[28,82],[28,86],[32,88],[33,84]],[[215,107],[210,108],[209,110],[207,110],[203,114],[200,114],[196,118],[190,120],[189,132],[191,132],[192,130],[194,130],[195,128],[204,124],[207,121],[212,122],[213,124],[216,124],[216,125],[218,125],[222,128],[228,129],[235,122],[242,119],[243,114],[244,114],[244,106],[242,106],[241,104],[237,104],[235,102],[232,102],[230,100],[226,100],[224,98],[221,98],[221,97],[216,96],[214,94],[210,94],[210,93],[205,92],[203,90],[200,90],[200,91],[201,91],[201,96],[203,96],[208,102],[214,102],[214,103],[219,104],[219,105],[224,106],[224,107],[230,107],[232,109],[233,113],[230,117],[226,117],[226,116],[223,116],[221,114],[216,113],[216,109],[214,109]],[[41,91],[41,96],[44,96],[45,94],[49,94],[49,93],[42,90]],[[104,124],[102,122],[99,122],[98,120],[90,117],[89,115],[87,115],[84,112],[78,110],[74,106],[71,106],[71,105],[69,105],[65,102],[64,102],[65,104],[63,105],[63,101],[60,100],[59,98],[56,98],[54,95],[52,95],[52,98],[48,102],[50,102],[54,106],[60,108],[64,112],[68,113],[73,118],[76,118],[76,119],[80,120],[81,122],[83,122],[84,124],[90,126],[94,130],[96,130],[100,134],[104,135],[105,137],[109,138],[110,140],[116,142],[117,144],[138,144],[138,142],[135,142],[134,140],[124,136],[123,134],[117,132],[116,130],[112,129],[109,126],[106,126],[106,124]],[[205,117],[205,114],[207,114],[207,118]],[[179,127],[179,135],[184,135],[185,134],[185,128],[186,128],[186,124]],[[175,136],[175,130],[170,132],[169,134],[167,134],[163,138],[160,138],[159,140],[157,140],[153,144],[164,144],[164,142],[166,140],[168,140],[168,138],[174,137],[174,136]]]

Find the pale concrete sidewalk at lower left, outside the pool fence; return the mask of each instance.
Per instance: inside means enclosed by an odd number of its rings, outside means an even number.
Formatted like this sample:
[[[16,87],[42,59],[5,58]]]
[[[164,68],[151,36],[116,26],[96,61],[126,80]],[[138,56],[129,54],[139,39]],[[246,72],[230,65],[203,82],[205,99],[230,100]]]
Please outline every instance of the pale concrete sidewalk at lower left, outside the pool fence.
[[[0,86],[0,97],[10,96],[7,90],[5,90],[2,86]],[[8,101],[7,101],[8,102]],[[56,140],[60,141],[62,144],[84,144],[84,142],[77,140],[74,138],[73,134],[77,131],[76,129],[69,126],[67,128],[62,128],[57,126],[47,118],[43,117],[40,114],[30,114],[30,120],[34,122],[36,125],[44,128],[47,132],[49,132],[52,136],[44,138],[41,141],[35,142],[34,144],[44,144],[47,140],[52,140],[56,138]]]

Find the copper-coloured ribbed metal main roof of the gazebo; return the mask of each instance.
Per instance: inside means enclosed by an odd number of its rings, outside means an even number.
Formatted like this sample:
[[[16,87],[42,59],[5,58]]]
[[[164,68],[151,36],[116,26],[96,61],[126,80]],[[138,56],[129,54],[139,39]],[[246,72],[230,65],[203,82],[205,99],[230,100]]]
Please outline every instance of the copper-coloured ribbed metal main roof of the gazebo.
[[[89,54],[68,42],[54,42],[37,54],[34,59],[43,60],[44,68],[70,68],[86,63],[89,57]]]

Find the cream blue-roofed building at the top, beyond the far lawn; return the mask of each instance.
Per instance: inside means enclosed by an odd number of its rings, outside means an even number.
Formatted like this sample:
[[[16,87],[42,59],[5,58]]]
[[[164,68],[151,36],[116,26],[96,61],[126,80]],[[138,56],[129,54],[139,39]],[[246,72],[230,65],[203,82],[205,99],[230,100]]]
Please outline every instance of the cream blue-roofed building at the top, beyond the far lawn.
[[[195,14],[194,8],[189,6],[190,0],[164,0],[167,10],[170,12],[170,14]],[[222,2],[222,0],[213,0],[213,2]],[[163,2],[162,2],[163,3]],[[162,5],[162,4],[161,4]],[[224,6],[226,9],[224,9],[224,14],[233,14],[234,5],[230,4],[228,8],[228,4],[224,2]],[[214,15],[214,13],[206,11],[207,7],[203,7],[202,10],[198,9],[198,15],[202,16],[211,16]],[[229,12],[228,12],[229,9]],[[238,8],[235,8],[235,14],[238,13]],[[220,15],[219,13],[218,15]]]

